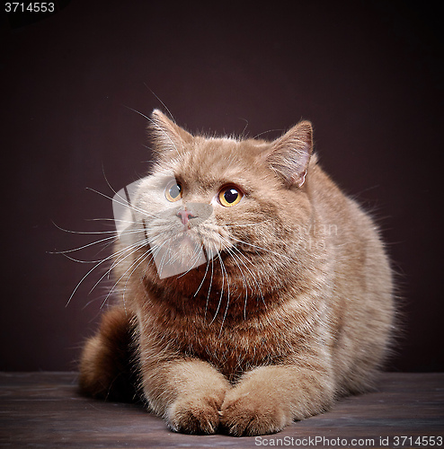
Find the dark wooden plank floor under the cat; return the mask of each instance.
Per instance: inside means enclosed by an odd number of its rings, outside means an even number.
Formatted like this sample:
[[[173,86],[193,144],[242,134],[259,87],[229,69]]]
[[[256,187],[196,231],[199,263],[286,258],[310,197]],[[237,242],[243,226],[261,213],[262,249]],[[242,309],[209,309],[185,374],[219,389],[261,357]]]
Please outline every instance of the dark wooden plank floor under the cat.
[[[170,432],[137,405],[79,396],[75,377],[0,373],[0,447],[444,447],[444,373],[383,374],[377,392],[257,438]]]

